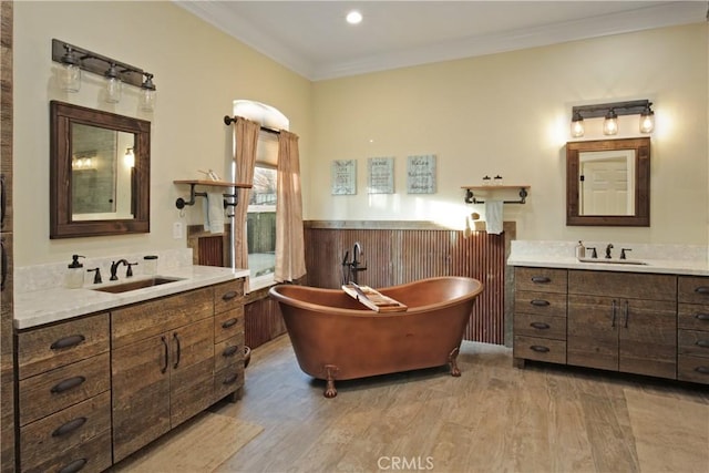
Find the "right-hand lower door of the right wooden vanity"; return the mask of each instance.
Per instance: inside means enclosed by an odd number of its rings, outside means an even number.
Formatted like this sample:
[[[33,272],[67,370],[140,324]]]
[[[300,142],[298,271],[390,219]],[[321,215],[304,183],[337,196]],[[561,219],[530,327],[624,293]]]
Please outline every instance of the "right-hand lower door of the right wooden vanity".
[[[677,379],[677,305],[623,300],[619,369],[626,373]]]

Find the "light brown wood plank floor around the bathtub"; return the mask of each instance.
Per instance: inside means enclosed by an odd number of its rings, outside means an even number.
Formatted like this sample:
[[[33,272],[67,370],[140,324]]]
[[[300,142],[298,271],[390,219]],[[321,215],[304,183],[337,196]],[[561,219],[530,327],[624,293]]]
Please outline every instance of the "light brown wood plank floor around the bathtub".
[[[215,472],[709,472],[709,389],[544,364],[463,342],[461,378],[421,370],[337,384],[287,336],[253,351],[242,401],[264,431]]]

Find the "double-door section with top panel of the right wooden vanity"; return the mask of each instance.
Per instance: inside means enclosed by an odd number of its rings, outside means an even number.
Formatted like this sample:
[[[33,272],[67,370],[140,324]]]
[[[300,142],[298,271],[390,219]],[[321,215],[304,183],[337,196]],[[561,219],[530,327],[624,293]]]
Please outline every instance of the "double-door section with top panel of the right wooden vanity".
[[[677,277],[568,271],[567,363],[677,378]]]

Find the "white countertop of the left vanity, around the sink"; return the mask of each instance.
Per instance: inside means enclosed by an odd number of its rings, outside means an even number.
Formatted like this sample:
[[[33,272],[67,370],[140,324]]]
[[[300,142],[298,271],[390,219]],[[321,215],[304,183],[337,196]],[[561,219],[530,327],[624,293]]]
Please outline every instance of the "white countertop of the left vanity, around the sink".
[[[214,266],[183,266],[161,271],[161,277],[181,278],[178,281],[151,286],[126,292],[112,294],[93,288],[116,286],[147,279],[152,276],[121,278],[102,285],[84,286],[81,289],[53,287],[14,295],[14,327],[28,329],[43,323],[56,322],[86,313],[110,310],[129,304],[142,302],[191,289],[226,282],[247,277],[248,269],[230,269]]]

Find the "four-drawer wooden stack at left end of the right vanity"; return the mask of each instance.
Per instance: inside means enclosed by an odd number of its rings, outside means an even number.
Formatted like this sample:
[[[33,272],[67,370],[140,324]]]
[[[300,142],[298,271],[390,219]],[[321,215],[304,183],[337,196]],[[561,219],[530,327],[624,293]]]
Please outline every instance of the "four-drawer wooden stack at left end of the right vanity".
[[[566,363],[567,270],[516,268],[514,361]]]

